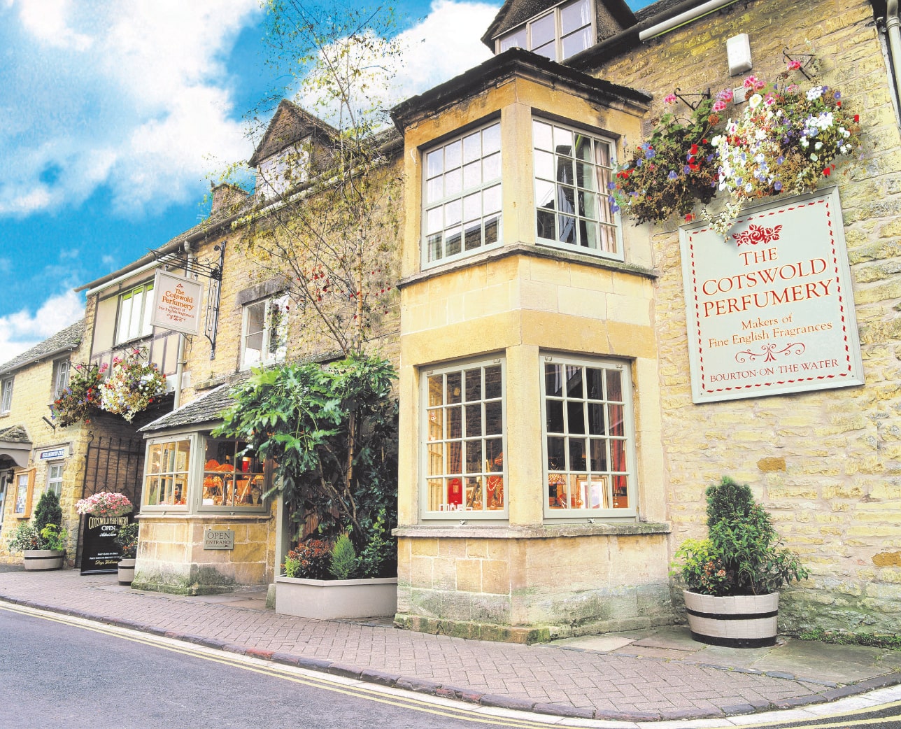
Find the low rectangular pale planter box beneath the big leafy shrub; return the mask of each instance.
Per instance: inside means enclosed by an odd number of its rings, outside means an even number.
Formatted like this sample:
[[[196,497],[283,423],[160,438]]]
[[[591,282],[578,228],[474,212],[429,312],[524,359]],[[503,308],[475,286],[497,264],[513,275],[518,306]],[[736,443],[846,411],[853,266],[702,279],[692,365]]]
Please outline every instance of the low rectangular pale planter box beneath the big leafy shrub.
[[[397,578],[276,578],[276,612],[333,620],[397,612]]]

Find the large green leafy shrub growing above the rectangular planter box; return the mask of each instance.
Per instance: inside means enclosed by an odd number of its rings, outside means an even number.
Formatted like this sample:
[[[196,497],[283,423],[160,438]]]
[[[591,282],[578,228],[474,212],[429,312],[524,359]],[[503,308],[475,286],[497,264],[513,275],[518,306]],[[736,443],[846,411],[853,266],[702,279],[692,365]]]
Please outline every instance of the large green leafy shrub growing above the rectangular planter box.
[[[383,511],[396,524],[395,377],[367,355],[259,370],[232,391],[214,434],[276,463],[273,491],[297,522],[316,515],[321,533],[349,532],[361,549]]]

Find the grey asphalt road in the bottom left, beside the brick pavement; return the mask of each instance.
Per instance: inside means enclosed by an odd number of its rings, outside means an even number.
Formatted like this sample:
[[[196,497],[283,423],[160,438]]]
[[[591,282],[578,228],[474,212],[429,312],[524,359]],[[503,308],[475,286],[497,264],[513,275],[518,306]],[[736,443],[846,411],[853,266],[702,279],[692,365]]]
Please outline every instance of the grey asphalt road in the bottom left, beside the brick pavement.
[[[152,642],[151,636],[147,637]],[[192,652],[193,647],[186,645]],[[485,726],[440,706],[307,685],[223,654],[184,654],[0,606],[0,727],[354,729]],[[314,683],[316,683],[314,681]],[[365,693],[365,692],[363,692]],[[387,703],[390,701],[391,703]],[[397,704],[395,706],[394,704]],[[437,712],[437,713],[434,713]],[[476,717],[473,717],[476,718]],[[522,726],[492,720],[495,726]]]

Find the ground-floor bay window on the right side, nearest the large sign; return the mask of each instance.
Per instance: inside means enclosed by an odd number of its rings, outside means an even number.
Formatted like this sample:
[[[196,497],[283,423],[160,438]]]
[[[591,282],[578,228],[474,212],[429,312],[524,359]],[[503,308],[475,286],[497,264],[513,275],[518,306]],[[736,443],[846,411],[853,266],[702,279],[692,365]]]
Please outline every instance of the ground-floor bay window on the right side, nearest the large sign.
[[[635,515],[628,367],[547,357],[543,368],[545,515]]]

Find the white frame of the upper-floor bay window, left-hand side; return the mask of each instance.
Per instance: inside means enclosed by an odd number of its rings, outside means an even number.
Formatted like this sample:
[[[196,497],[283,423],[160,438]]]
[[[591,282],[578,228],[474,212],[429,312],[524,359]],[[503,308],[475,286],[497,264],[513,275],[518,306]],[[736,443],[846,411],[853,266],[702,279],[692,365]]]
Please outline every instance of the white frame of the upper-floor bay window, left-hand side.
[[[487,133],[486,133],[487,132]],[[496,149],[492,136],[496,134]],[[467,159],[466,149],[472,140],[478,135],[478,157]],[[455,149],[460,148],[460,160],[457,161]],[[497,248],[503,239],[503,148],[504,141],[501,137],[500,119],[492,119],[481,124],[475,129],[469,129],[441,144],[436,144],[423,150],[423,220],[422,220],[422,268],[429,269],[440,266],[453,260],[460,260],[476,255],[482,251]],[[471,149],[471,147],[470,147]],[[486,149],[488,150],[486,153]],[[441,161],[437,160],[441,158]],[[440,164],[440,169],[438,165]],[[496,174],[492,168],[496,166]],[[478,168],[478,184],[471,183],[466,186],[466,178],[469,170],[473,172]],[[460,187],[451,187],[451,193],[447,193],[447,183],[456,177],[459,171]],[[486,175],[492,175],[486,179]],[[440,192],[438,191],[440,188]],[[478,199],[477,199],[478,198]],[[475,210],[478,203],[478,215],[467,214],[467,209]],[[459,206],[460,212],[455,212]],[[492,208],[486,214],[486,206]],[[469,223],[469,229],[467,228]],[[476,232],[475,224],[478,223],[478,245],[467,249],[467,232]],[[494,225],[494,229],[488,226]],[[448,253],[449,233],[451,236],[459,230],[460,250]],[[435,239],[436,235],[441,240]],[[494,240],[488,241],[494,237]],[[451,238],[452,240],[452,238]],[[434,256],[436,244],[440,246],[440,255]]]

